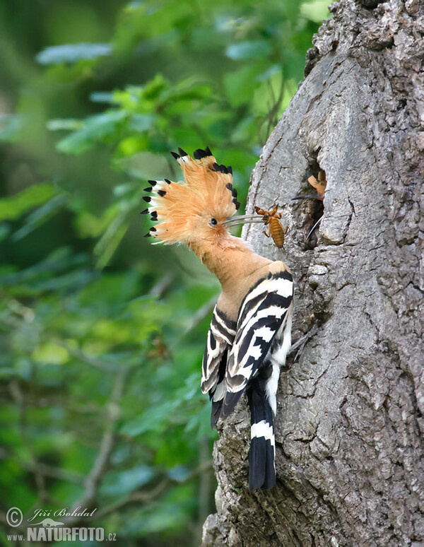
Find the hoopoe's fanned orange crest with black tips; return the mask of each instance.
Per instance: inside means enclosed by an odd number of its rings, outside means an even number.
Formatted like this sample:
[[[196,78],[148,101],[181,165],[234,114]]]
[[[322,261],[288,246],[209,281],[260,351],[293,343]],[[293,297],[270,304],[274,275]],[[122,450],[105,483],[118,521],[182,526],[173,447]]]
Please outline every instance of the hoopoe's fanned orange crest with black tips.
[[[231,167],[218,165],[208,147],[194,151],[194,158],[182,148],[178,152],[171,153],[182,168],[184,181],[149,180],[151,188],[146,192],[153,196],[143,197],[149,204],[143,213],[150,213],[158,222],[146,237],[153,236],[167,245],[187,242],[196,216],[224,221],[240,205],[237,191],[232,188]]]

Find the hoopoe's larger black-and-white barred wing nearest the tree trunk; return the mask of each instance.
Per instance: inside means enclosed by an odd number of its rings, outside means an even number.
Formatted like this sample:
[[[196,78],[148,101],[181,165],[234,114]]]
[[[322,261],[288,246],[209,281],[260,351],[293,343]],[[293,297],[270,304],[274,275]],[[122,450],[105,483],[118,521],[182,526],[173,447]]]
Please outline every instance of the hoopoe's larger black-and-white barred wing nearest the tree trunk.
[[[235,407],[247,382],[257,373],[276,335],[283,332],[293,300],[290,271],[269,273],[246,295],[237,320],[237,334],[228,355],[225,399],[220,418]]]

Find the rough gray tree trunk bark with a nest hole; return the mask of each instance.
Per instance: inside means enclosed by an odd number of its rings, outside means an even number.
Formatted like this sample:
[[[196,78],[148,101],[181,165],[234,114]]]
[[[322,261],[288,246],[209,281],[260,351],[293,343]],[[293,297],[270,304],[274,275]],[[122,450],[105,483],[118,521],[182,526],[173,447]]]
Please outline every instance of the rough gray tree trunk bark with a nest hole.
[[[330,10],[247,206],[278,204],[290,225],[286,255],[261,225],[245,235],[290,266],[293,342],[303,337],[281,371],[277,485],[249,493],[241,401],[214,449],[205,547],[424,545],[424,8]],[[319,169],[324,206],[290,202],[314,193],[307,171]]]

